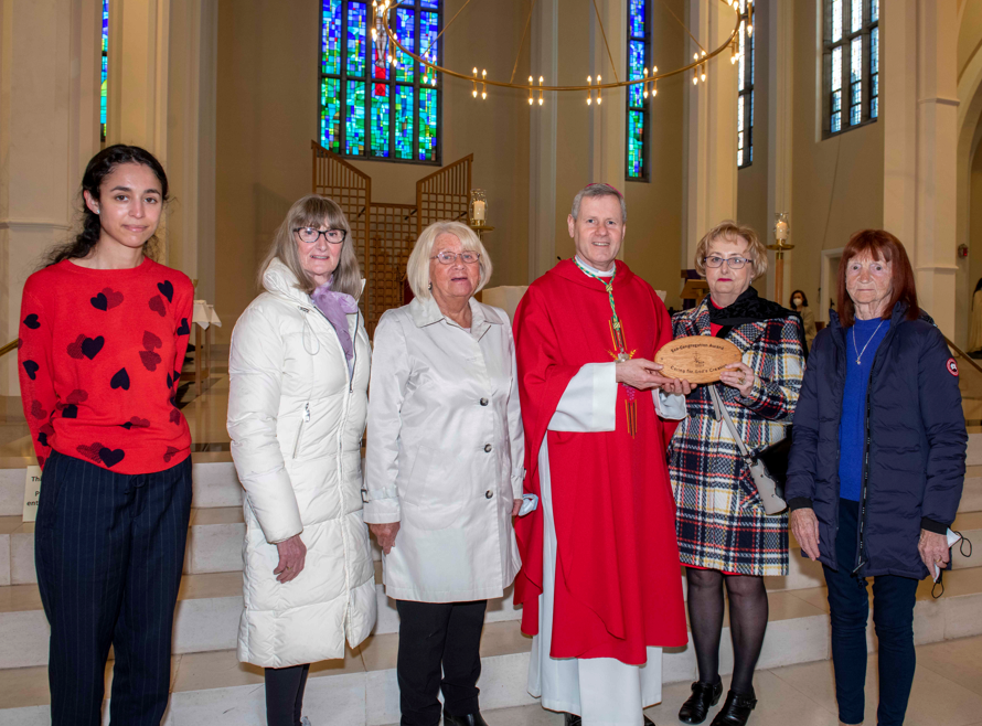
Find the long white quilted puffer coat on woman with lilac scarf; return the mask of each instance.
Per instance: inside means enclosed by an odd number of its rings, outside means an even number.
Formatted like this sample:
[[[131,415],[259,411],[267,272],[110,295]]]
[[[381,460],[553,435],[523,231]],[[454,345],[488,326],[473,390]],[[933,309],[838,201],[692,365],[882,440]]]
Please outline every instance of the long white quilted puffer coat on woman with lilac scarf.
[[[362,515],[361,440],[371,346],[348,316],[354,375],[328,319],[274,260],[235,324],[228,435],[245,488],[245,610],[238,659],[286,668],[343,658],[375,624],[375,568]],[[300,534],[303,570],[280,584],[277,542]]]

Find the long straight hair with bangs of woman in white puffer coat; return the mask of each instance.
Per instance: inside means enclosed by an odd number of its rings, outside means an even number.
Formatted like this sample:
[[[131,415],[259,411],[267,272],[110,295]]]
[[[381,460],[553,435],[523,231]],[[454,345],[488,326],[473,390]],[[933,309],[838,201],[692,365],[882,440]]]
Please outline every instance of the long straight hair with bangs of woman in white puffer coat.
[[[354,253],[354,239],[351,238],[351,225],[348,217],[334,200],[317,194],[308,194],[297,200],[276,234],[273,244],[266,254],[266,259],[259,265],[259,287],[264,288],[263,275],[269,263],[278,259],[286,265],[297,278],[297,288],[307,295],[317,289],[317,284],[300,264],[300,255],[297,253],[297,241],[293,238],[293,229],[300,227],[320,227],[325,225],[331,229],[344,229],[348,234],[341,243],[341,256],[338,267],[334,268],[331,278],[331,289],[335,292],[344,292],[355,300],[362,292],[362,275],[357,264],[357,255]],[[330,243],[328,243],[330,244]]]

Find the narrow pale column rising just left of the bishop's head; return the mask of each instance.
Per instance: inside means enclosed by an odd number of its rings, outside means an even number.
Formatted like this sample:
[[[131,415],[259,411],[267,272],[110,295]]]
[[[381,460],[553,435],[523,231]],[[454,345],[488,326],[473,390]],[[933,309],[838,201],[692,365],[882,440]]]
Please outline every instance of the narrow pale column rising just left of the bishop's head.
[[[532,62],[529,73],[544,76],[551,85],[559,77],[559,0],[540,0],[532,15]],[[558,108],[546,94],[538,106],[535,94],[530,109],[529,164],[529,281],[556,264],[556,131]],[[565,231],[564,231],[565,234]]]

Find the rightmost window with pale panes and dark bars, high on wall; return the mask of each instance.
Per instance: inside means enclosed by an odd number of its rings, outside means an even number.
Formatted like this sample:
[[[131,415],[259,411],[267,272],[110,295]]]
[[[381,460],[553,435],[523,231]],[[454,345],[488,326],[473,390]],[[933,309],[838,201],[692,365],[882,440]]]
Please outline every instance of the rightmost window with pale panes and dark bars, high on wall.
[[[879,118],[879,0],[825,0],[825,137]]]

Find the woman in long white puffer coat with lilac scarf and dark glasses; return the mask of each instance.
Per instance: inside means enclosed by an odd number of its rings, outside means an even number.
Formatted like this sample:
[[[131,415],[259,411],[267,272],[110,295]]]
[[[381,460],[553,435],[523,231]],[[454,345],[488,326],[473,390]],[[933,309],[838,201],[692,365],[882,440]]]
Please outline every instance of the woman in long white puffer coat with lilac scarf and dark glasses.
[[[246,521],[238,658],[266,669],[269,726],[297,726],[309,664],[343,658],[375,624],[361,497],[371,348],[333,201],[293,204],[261,270],[228,364]]]

